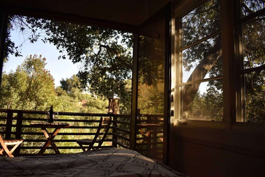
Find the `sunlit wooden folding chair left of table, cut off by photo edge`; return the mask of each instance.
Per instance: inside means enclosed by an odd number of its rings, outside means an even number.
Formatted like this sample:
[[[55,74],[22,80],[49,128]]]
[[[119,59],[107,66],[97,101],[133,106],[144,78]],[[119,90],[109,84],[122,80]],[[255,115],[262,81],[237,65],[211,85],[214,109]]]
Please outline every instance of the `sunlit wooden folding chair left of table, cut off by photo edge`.
[[[8,138],[8,139],[3,139],[2,135],[0,134],[0,144],[2,148],[0,149],[0,154],[3,155],[3,152],[9,156],[9,157],[14,157],[12,155],[12,152],[23,142],[23,140],[20,139],[14,139],[14,138]],[[7,145],[15,145],[11,150],[8,149]]]

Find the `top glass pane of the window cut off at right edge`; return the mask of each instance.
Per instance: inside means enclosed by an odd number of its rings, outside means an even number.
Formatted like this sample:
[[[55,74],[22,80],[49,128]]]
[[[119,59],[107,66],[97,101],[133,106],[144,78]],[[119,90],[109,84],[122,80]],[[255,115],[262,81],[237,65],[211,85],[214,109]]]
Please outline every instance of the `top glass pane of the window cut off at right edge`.
[[[265,8],[264,0],[240,0],[241,17],[248,16],[258,10]]]

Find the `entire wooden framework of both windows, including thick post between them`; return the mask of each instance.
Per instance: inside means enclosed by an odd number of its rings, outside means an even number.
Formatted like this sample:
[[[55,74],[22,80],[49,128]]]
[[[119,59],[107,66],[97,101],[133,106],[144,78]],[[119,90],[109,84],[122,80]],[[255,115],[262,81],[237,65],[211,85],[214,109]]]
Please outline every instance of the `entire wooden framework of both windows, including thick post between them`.
[[[223,122],[212,122],[205,120],[183,120],[179,119],[181,116],[181,86],[198,83],[201,81],[209,81],[215,79],[221,79],[221,77],[207,78],[199,81],[192,81],[189,83],[181,83],[182,81],[182,50],[190,47],[190,45],[181,48],[181,18],[194,10],[196,7],[205,3],[207,0],[185,0],[174,9],[175,17],[175,43],[174,43],[174,70],[175,70],[175,87],[174,87],[174,125],[175,126],[192,126],[199,128],[214,128],[220,130],[232,130],[236,132],[254,133],[265,135],[265,124],[259,123],[246,123],[237,122],[244,116],[244,82],[241,76],[242,72],[251,72],[254,70],[263,70],[265,67],[256,67],[246,70],[242,70],[243,59],[243,44],[242,44],[242,29],[241,23],[254,18],[257,15],[264,14],[264,9],[255,12],[254,15],[250,15],[242,18],[240,16],[240,1],[222,0],[220,3],[220,17],[221,17],[221,30],[216,33],[222,34],[222,58],[223,58]],[[211,38],[216,33],[206,36],[205,38]],[[204,41],[202,38],[195,43],[198,44]],[[196,45],[196,44],[193,45]],[[173,82],[172,82],[173,83]]]

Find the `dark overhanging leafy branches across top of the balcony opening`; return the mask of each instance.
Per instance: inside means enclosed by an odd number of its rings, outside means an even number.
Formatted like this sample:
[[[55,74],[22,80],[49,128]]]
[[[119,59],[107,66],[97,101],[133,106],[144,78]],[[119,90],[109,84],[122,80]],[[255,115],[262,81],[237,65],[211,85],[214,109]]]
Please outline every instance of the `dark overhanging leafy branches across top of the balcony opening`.
[[[66,59],[67,54],[73,63],[82,62],[77,74],[82,89],[99,96],[107,96],[111,90],[128,95],[124,80],[131,79],[133,34],[18,15],[9,20],[9,31],[20,29],[32,43],[41,39],[54,44],[62,53],[58,59]],[[7,45],[16,55],[22,46]]]

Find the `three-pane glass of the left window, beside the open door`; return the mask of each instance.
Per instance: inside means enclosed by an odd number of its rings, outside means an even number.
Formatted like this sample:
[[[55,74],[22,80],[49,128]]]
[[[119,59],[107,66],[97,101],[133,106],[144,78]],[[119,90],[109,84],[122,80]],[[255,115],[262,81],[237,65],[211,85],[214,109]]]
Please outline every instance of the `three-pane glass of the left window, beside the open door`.
[[[223,82],[220,6],[206,1],[179,18],[180,118],[222,121]],[[182,33],[182,34],[181,34]]]

